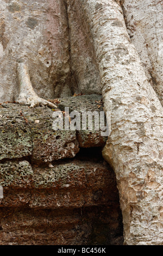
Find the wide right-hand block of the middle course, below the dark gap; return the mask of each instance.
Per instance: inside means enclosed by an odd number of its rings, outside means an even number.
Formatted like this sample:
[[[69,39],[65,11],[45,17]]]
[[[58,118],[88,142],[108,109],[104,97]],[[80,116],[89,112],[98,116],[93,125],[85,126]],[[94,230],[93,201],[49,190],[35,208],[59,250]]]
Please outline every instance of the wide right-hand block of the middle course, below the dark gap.
[[[114,172],[103,162],[71,161],[34,168],[31,208],[80,208],[118,201]]]

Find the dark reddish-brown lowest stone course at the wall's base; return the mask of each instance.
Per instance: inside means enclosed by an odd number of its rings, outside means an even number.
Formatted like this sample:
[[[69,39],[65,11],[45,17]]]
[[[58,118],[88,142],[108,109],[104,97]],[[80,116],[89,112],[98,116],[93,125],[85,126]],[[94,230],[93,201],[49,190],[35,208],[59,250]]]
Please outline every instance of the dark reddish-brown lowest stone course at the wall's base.
[[[60,211],[1,208],[1,245],[122,245],[118,211],[116,205]]]

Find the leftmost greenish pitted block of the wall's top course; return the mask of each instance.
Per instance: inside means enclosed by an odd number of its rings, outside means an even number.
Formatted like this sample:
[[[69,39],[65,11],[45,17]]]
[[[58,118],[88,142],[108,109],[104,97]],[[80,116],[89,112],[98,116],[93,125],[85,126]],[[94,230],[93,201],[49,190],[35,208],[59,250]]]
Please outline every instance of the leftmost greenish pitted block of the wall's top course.
[[[31,155],[30,127],[21,116],[20,106],[5,104],[0,107],[0,160]]]

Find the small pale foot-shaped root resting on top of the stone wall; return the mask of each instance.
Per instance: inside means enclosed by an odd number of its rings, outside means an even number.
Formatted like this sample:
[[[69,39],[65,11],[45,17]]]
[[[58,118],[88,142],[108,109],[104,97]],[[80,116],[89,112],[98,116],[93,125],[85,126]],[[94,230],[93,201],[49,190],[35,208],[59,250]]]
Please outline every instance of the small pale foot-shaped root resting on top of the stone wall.
[[[32,83],[30,82],[28,67],[24,63],[17,64],[18,84],[20,88],[20,94],[16,100],[17,103],[22,105],[35,106],[48,106],[51,108],[57,108],[52,102],[40,98],[34,92]]]

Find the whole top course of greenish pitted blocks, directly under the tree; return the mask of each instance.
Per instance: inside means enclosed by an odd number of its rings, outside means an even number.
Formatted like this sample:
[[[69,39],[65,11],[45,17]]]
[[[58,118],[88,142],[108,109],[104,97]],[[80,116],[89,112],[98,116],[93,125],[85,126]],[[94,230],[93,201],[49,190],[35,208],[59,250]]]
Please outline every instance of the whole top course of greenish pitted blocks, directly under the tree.
[[[80,113],[102,111],[100,95],[83,95],[58,99],[64,111]],[[53,111],[45,107],[29,108],[15,103],[3,103],[0,108],[0,160],[32,156],[33,160],[51,162],[74,157],[79,147],[103,147],[106,137],[101,130],[54,131]]]

